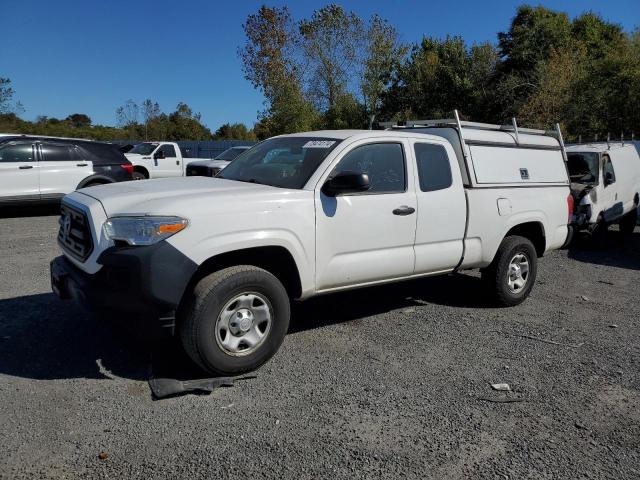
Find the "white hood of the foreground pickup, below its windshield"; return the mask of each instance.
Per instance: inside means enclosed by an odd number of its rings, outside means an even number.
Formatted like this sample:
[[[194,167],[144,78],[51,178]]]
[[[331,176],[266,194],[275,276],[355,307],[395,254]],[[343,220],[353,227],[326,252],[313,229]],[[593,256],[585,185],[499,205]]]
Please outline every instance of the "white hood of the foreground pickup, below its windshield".
[[[254,200],[277,200],[297,190],[211,177],[159,178],[83,188],[79,193],[98,200],[108,216],[119,214],[183,215],[197,210],[254,206]]]

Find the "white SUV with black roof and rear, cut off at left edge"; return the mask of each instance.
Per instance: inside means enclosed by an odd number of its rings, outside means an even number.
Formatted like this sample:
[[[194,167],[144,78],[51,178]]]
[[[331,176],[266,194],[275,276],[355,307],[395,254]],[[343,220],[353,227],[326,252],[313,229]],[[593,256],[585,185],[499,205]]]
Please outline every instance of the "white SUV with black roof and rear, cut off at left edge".
[[[0,136],[0,204],[60,201],[79,188],[131,180],[114,145],[28,135]]]

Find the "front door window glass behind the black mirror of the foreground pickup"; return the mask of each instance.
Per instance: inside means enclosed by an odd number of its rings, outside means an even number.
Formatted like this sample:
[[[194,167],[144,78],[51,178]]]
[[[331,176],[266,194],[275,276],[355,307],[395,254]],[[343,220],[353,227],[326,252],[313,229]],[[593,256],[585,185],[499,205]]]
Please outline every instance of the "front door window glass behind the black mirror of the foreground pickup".
[[[340,172],[366,173],[369,193],[400,193],[407,189],[407,176],[402,145],[372,143],[356,147],[347,153],[332,175]]]

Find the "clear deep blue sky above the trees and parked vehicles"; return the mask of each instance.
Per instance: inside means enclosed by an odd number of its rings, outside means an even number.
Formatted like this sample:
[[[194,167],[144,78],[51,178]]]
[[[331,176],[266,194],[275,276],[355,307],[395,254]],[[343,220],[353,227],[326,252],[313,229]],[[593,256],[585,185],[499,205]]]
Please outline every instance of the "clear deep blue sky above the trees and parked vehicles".
[[[252,125],[263,98],[247,82],[237,56],[242,23],[263,3],[288,5],[308,17],[330,2],[236,0],[0,0],[0,77],[9,77],[24,117],[86,113],[113,125],[115,109],[151,98],[164,111],[180,101],[209,128]],[[367,18],[378,13],[405,42],[423,35],[496,41],[523,1],[337,1]],[[640,25],[638,0],[539,1],[570,16],[592,10],[625,30]]]

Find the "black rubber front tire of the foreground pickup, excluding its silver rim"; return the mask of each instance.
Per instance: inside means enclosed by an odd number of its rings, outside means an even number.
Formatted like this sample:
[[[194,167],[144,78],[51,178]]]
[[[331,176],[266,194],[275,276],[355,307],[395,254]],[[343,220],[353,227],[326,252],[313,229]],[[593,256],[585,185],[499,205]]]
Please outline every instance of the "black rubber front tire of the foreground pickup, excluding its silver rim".
[[[216,325],[223,308],[245,293],[267,300],[271,324],[254,351],[228,353],[219,344]],[[290,315],[289,296],[275,276],[258,267],[239,265],[198,282],[180,314],[178,331],[185,352],[202,369],[218,375],[238,375],[255,370],[276,353],[289,328]]]

